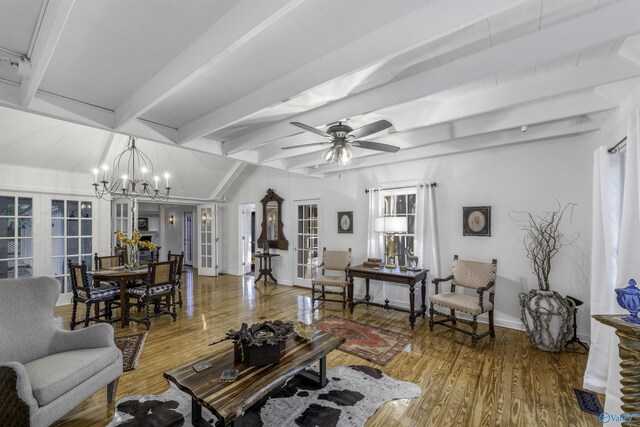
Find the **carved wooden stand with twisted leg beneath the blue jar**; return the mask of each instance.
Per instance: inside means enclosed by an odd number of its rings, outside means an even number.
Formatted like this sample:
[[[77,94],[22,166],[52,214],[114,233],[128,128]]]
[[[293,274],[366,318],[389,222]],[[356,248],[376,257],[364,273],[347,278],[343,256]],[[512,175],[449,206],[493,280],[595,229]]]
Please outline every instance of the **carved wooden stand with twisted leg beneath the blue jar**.
[[[623,427],[640,425],[640,325],[622,320],[626,315],[597,314],[593,316],[600,323],[616,329],[620,339],[620,374],[622,379],[622,411],[628,415]]]

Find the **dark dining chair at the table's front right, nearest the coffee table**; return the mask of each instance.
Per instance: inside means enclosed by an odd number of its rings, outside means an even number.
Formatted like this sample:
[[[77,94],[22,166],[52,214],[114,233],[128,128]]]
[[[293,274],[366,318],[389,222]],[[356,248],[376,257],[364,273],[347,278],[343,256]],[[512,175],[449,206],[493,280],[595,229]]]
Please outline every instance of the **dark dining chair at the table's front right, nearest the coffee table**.
[[[151,327],[151,318],[162,314],[168,314],[176,320],[175,285],[174,285],[174,261],[156,262],[148,264],[147,277],[142,286],[127,289],[127,322],[144,323],[147,329]],[[145,308],[145,317],[134,318],[129,315],[131,298],[137,299]],[[153,303],[153,313],[151,304]]]

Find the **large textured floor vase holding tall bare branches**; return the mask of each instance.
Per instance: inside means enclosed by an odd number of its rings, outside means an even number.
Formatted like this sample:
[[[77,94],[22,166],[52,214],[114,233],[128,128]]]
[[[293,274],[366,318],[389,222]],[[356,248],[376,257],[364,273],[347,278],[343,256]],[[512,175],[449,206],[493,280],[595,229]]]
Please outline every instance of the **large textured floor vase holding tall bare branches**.
[[[549,287],[551,260],[562,246],[575,242],[576,234],[567,239],[560,231],[565,214],[571,217],[575,203],[558,208],[544,215],[533,215],[527,211],[511,211],[509,216],[524,231],[522,242],[531,261],[533,273],[538,279],[538,289],[520,294],[522,323],[531,344],[544,351],[562,351],[572,333],[571,318],[573,302]]]

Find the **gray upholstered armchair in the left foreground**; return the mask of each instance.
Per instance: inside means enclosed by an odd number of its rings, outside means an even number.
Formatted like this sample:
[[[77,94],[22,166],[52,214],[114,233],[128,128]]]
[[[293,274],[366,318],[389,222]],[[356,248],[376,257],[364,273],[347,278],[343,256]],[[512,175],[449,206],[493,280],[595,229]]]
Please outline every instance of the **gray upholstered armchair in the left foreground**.
[[[0,425],[48,426],[122,374],[111,325],[60,329],[60,284],[50,277],[0,280]]]

